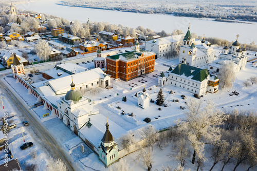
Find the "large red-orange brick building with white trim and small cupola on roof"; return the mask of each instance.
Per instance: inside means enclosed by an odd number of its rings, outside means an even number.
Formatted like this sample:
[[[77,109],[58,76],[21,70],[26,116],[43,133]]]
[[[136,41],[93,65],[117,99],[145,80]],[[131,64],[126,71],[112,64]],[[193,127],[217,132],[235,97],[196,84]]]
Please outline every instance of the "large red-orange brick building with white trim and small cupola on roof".
[[[128,81],[153,72],[155,53],[140,50],[138,42],[135,47],[135,51],[106,56],[106,73],[112,78]]]

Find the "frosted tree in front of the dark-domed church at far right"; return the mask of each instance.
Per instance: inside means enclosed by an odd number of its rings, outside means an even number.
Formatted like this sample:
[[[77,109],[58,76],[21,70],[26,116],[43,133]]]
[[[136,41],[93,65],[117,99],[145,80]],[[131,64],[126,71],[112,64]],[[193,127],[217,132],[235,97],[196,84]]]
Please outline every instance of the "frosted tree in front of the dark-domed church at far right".
[[[217,77],[219,78],[219,84],[222,88],[231,88],[235,81],[235,71],[233,61],[229,61],[221,66]]]

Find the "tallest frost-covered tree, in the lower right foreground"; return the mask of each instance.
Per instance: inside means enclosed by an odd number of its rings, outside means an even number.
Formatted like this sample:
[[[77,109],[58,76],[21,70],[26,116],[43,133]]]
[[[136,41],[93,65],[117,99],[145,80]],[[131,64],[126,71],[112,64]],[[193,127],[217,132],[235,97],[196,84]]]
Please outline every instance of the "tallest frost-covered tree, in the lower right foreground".
[[[201,109],[203,101],[188,99],[187,110],[185,111],[185,121],[179,121],[179,128],[187,135],[192,148],[194,149],[192,163],[195,158],[205,161],[204,155],[205,143],[213,143],[221,139],[220,128],[227,118],[226,115],[216,107],[212,102]]]

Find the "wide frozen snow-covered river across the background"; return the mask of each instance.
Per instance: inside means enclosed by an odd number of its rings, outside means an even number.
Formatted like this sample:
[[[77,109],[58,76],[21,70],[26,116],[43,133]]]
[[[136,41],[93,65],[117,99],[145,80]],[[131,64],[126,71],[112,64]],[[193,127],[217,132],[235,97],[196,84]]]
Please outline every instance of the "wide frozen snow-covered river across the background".
[[[39,0],[36,2],[20,4],[16,7],[23,10],[31,10],[39,13],[52,14],[63,17],[69,21],[78,19],[80,22],[87,22],[89,18],[92,22],[108,22],[111,24],[122,24],[123,26],[134,27],[143,26],[154,31],[165,30],[171,33],[174,29],[187,32],[190,23],[191,32],[197,35],[205,34],[207,37],[221,37],[228,41],[235,41],[237,34],[240,35],[240,43],[250,44],[257,42],[257,23],[225,23],[215,22],[211,18],[177,17],[164,14],[142,14],[121,11],[110,11],[101,9],[67,7],[57,5],[57,0]]]

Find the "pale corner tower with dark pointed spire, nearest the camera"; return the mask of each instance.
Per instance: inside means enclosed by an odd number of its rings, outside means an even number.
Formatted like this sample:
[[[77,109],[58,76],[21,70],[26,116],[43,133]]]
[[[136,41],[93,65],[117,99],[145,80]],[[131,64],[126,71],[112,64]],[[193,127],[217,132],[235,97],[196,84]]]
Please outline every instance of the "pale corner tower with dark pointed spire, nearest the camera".
[[[108,120],[106,121],[106,130],[98,146],[99,159],[106,167],[116,162],[118,158],[118,144],[114,142],[114,137],[109,131]]]

